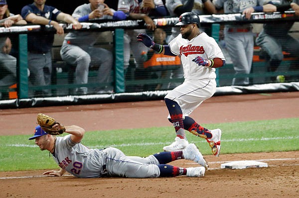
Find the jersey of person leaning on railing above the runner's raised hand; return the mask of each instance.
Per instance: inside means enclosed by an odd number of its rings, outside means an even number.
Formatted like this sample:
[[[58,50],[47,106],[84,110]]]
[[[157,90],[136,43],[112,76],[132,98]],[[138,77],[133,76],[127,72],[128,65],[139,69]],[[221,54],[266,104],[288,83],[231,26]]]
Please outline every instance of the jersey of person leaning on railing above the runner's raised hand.
[[[153,0],[155,6],[164,6],[162,0]],[[122,10],[125,13],[145,13],[149,14],[150,8],[143,7],[142,0],[119,0],[118,10]]]

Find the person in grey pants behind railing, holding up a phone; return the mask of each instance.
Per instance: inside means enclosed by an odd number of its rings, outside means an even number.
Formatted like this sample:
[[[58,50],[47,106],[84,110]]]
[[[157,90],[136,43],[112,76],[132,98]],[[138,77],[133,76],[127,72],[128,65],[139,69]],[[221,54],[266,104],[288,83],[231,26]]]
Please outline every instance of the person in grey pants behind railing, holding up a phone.
[[[98,4],[101,5],[98,5]],[[102,6],[103,10],[100,10]],[[99,7],[99,8],[98,8]],[[115,11],[109,8],[104,0],[89,0],[89,3],[78,6],[72,16],[79,22],[86,22],[92,19],[115,19],[122,20],[126,15],[122,11]],[[97,66],[99,83],[111,83],[111,70],[113,56],[110,51],[94,44],[101,36],[101,32],[96,31],[75,31],[68,33],[63,41],[60,55],[64,61],[76,65],[76,84],[86,84],[88,82],[89,67]],[[97,90],[98,93],[112,92],[111,85],[102,85]],[[86,94],[87,87],[76,90],[78,94]]]

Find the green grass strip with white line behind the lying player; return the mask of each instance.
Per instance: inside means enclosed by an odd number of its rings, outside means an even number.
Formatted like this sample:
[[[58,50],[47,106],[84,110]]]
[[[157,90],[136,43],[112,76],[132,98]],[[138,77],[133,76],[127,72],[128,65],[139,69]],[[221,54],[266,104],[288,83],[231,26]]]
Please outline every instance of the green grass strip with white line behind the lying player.
[[[221,154],[299,150],[299,118],[202,124],[220,128]],[[65,134],[67,135],[67,134]],[[212,155],[204,139],[186,131],[189,143],[195,143],[203,155]],[[0,171],[58,169],[49,152],[40,151],[29,141],[32,135],[0,136]],[[116,147],[128,156],[146,157],[161,152],[174,141],[174,128],[153,127],[86,132],[82,143],[92,149]]]

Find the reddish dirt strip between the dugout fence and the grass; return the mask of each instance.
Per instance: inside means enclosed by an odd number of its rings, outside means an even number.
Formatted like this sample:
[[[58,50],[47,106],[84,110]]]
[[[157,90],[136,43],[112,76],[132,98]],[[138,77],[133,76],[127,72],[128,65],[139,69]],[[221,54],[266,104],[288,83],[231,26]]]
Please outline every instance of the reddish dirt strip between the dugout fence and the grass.
[[[204,101],[190,116],[205,124],[296,118],[298,105],[299,92],[217,96]],[[0,135],[32,134],[38,113],[86,131],[171,126],[165,103],[159,100],[4,109],[0,110]],[[16,122],[22,123],[22,131]]]

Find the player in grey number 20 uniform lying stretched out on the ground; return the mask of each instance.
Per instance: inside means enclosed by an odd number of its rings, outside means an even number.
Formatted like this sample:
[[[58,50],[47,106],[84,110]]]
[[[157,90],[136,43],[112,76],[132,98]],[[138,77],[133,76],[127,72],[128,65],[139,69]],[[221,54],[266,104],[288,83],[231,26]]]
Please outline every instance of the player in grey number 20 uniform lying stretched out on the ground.
[[[60,130],[60,125],[55,124],[53,128]],[[43,175],[62,176],[68,172],[78,178],[157,178],[181,175],[203,177],[207,168],[205,160],[194,144],[189,144],[183,151],[161,152],[142,158],[126,156],[113,147],[89,149],[80,143],[85,133],[84,129],[75,125],[65,128],[69,135],[57,137],[46,133],[38,125],[34,136],[29,138],[35,139],[35,144],[40,150],[49,151],[60,167],[59,171],[47,171]],[[181,168],[167,165],[179,159],[192,160],[202,166]]]

